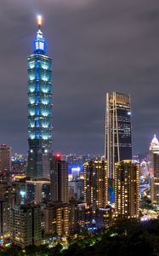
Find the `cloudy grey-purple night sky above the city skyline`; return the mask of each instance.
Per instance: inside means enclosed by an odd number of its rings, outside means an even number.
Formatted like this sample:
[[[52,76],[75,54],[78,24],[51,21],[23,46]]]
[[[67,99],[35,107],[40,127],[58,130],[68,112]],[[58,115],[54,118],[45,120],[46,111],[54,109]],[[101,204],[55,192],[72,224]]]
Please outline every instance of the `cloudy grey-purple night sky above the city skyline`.
[[[159,137],[158,0],[1,0],[0,143],[27,152],[36,15],[54,61],[54,151],[104,153],[105,93],[130,94],[133,152]]]

